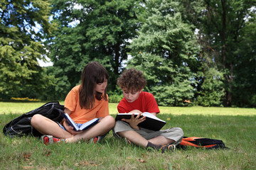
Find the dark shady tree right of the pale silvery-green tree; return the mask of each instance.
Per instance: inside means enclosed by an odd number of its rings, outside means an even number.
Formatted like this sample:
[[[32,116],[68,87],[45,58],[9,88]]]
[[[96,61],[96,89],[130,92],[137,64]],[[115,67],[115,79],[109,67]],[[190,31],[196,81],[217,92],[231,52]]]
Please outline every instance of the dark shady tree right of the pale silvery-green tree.
[[[184,20],[192,23],[198,29],[198,42],[201,46],[201,62],[203,63],[202,72],[204,73],[198,87],[201,88],[204,79],[209,79],[206,76],[211,75],[205,71],[216,69],[218,72],[215,73],[223,75],[224,78],[221,79],[223,81],[223,88],[225,89],[225,96],[223,96],[222,100],[223,105],[232,106],[233,103],[236,103],[236,101],[233,101],[233,96],[240,96],[240,92],[237,91],[238,89],[236,87],[247,86],[249,89],[253,89],[254,86],[251,83],[245,85],[241,81],[238,81],[238,77],[241,74],[236,69],[239,68],[239,63],[240,66],[249,67],[247,71],[250,71],[250,75],[255,74],[255,70],[252,69],[255,65],[247,64],[248,59],[253,60],[252,56],[255,55],[250,56],[250,52],[245,52],[247,49],[251,49],[253,45],[249,40],[251,36],[245,37],[245,35],[252,34],[254,31],[247,29],[250,33],[244,34],[243,32],[245,27],[249,25],[247,23],[250,22],[246,18],[255,16],[255,8],[252,8],[256,5],[255,1],[185,0],[181,1],[181,4],[185,9],[182,15]],[[241,40],[250,43],[241,43]]]

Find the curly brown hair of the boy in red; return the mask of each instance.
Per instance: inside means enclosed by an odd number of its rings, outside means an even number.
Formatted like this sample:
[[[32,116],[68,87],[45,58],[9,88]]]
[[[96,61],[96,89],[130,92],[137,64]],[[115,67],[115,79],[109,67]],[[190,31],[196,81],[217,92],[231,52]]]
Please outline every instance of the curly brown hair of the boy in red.
[[[140,91],[146,86],[146,79],[141,71],[126,69],[117,79],[117,86],[129,92]]]

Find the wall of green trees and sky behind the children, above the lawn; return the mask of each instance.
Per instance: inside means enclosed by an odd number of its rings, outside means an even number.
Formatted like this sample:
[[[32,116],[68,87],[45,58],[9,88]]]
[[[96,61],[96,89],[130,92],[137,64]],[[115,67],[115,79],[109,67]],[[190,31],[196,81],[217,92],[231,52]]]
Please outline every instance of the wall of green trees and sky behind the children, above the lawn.
[[[255,1],[3,0],[1,101],[63,101],[88,62],[142,70],[159,106],[256,106]],[[42,67],[39,62],[50,62]]]

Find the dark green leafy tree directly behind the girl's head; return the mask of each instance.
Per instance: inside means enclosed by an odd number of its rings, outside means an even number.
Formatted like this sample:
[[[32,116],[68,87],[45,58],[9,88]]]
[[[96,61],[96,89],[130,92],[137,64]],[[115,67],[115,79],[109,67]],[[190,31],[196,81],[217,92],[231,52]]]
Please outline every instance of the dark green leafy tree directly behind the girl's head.
[[[48,46],[56,77],[67,77],[62,94],[79,83],[83,67],[92,60],[109,71],[108,87],[114,91],[129,39],[137,35],[139,8],[134,0],[53,1],[58,30]]]

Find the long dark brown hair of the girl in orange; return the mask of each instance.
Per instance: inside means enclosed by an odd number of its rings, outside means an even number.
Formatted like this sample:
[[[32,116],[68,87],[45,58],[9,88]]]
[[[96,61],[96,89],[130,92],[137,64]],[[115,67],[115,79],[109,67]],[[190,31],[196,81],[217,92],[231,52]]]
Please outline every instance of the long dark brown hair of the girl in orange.
[[[81,86],[79,88],[80,107],[90,109],[95,104],[95,98],[107,101],[107,88],[104,93],[95,92],[95,86],[108,79],[107,70],[99,62],[90,62],[85,66],[81,75]],[[95,94],[94,94],[95,92]]]

